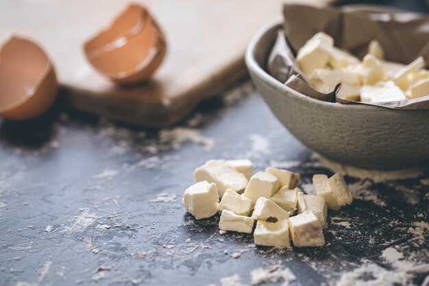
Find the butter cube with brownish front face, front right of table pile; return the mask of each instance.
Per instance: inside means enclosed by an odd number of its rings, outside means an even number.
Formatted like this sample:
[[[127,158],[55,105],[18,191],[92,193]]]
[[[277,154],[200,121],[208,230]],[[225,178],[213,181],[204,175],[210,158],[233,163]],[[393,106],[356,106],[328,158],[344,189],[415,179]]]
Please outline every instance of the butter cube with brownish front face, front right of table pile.
[[[289,231],[294,246],[325,245],[322,226],[319,219],[311,211],[291,217],[289,219]]]

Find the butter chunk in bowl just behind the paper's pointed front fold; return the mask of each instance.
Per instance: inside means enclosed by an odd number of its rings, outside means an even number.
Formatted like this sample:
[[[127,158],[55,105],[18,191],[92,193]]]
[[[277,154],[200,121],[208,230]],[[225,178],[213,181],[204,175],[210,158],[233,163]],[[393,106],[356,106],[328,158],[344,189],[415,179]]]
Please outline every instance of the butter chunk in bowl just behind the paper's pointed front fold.
[[[310,75],[310,82],[321,93],[331,93],[337,84],[341,83],[339,97],[358,100],[360,82],[356,73],[348,70],[315,69]]]

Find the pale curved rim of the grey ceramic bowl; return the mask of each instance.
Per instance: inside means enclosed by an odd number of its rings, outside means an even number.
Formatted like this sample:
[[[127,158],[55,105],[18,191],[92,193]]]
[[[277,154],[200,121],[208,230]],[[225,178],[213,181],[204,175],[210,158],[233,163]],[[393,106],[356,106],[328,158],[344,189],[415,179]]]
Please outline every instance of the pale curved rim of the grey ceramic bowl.
[[[331,108],[333,110],[365,110],[369,112],[391,112],[395,111],[391,108],[384,108],[382,106],[371,106],[367,104],[341,104],[339,102],[323,102],[322,100],[315,99],[312,97],[309,97],[308,95],[304,95],[303,93],[299,93],[298,91],[295,91],[293,88],[290,88],[289,86],[286,86],[285,84],[282,84],[275,78],[273,78],[269,73],[267,73],[258,62],[256,62],[256,59],[254,57],[254,53],[256,50],[256,45],[260,43],[260,40],[265,34],[270,32],[274,28],[280,28],[282,26],[282,19],[275,19],[272,21],[269,21],[265,25],[263,25],[258,32],[254,35],[252,40],[250,41],[249,45],[247,46],[246,53],[245,53],[245,63],[247,65],[247,68],[249,71],[252,71],[255,73],[258,78],[261,78],[263,81],[267,82],[267,84],[273,86],[274,88],[281,91],[284,95],[293,97],[300,102],[305,102],[306,104],[312,104],[317,106],[323,106],[325,108]],[[396,110],[400,111],[400,110]],[[412,110],[401,110],[401,111],[412,111]]]

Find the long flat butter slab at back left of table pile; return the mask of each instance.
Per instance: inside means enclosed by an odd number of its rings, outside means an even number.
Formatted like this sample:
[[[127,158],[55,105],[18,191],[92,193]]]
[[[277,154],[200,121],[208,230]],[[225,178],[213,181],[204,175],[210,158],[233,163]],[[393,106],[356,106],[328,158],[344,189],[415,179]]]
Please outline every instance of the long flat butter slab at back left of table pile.
[[[225,160],[208,160],[195,169],[194,178],[196,182],[214,182],[221,198],[227,189],[242,191],[249,182],[243,174],[226,165]]]

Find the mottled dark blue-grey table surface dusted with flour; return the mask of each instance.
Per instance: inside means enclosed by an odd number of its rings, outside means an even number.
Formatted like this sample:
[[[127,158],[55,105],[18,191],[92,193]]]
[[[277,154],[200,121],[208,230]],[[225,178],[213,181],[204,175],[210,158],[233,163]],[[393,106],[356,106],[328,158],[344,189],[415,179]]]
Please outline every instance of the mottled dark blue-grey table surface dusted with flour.
[[[330,211],[327,245],[282,250],[186,214],[182,194],[211,158],[297,171],[308,193],[313,174],[332,174],[249,82],[160,132],[61,104],[1,122],[0,285],[427,285],[428,168],[343,170],[355,199]]]

